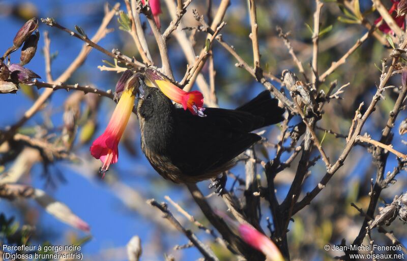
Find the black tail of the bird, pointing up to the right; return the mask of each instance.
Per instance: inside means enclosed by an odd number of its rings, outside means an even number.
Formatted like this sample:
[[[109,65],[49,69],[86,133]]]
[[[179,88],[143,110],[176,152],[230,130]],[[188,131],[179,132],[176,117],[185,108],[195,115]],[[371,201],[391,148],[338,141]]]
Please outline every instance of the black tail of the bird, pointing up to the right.
[[[260,92],[253,100],[236,108],[236,110],[264,117],[264,124],[260,127],[276,124],[284,120],[283,113],[285,112],[283,108],[278,107],[278,100],[273,99],[268,90]]]

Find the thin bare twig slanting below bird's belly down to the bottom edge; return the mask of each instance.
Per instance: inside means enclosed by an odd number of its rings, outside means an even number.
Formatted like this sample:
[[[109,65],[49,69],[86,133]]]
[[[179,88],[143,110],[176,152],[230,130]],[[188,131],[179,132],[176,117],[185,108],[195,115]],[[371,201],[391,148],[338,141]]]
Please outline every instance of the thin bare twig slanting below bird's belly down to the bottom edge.
[[[161,212],[164,213],[164,218],[168,219],[168,221],[176,227],[176,229],[182,233],[185,234],[185,236],[195,245],[195,247],[201,252],[203,256],[207,260],[212,260],[212,261],[218,261],[219,259],[216,257],[216,255],[212,252],[211,248],[202,242],[199,241],[199,239],[193,234],[190,230],[186,230],[180,222],[171,214],[171,212],[168,210],[167,205],[165,203],[159,204],[157,201],[154,199],[148,200],[148,204],[150,204],[153,207],[158,208],[161,210]]]

